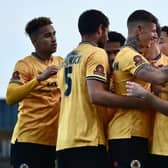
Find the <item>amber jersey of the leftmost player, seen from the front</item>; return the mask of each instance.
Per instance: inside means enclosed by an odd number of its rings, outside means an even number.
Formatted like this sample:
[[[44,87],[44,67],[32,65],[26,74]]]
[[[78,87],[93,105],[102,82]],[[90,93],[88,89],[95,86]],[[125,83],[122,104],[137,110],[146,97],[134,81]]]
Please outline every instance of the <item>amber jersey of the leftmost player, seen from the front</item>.
[[[9,86],[13,83],[24,85],[35,82],[35,87],[19,102],[12,143],[17,141],[55,146],[60,109],[57,75],[40,83],[36,78],[48,66],[60,66],[61,62],[61,57],[52,57],[49,62],[44,62],[30,55],[16,63]]]

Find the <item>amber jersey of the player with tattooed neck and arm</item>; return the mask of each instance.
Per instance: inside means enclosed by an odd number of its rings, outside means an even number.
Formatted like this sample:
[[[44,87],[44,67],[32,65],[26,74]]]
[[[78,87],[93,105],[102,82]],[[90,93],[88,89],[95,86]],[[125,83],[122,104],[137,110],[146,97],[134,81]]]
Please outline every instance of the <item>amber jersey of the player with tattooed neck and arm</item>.
[[[136,50],[124,47],[117,54],[113,63],[113,80],[115,92],[119,95],[126,95],[126,81],[139,83],[146,89],[150,84],[135,77],[136,72],[148,61]],[[117,108],[113,119],[108,125],[108,138],[120,139],[131,136],[148,137],[150,116],[148,111],[136,109]]]

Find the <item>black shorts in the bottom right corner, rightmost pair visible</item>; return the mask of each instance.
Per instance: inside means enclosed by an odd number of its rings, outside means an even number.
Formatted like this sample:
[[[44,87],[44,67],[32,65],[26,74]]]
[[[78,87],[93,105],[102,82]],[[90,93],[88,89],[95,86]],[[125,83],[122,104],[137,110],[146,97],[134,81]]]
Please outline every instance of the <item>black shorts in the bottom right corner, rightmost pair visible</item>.
[[[168,167],[168,156],[151,154],[148,167],[167,168]]]

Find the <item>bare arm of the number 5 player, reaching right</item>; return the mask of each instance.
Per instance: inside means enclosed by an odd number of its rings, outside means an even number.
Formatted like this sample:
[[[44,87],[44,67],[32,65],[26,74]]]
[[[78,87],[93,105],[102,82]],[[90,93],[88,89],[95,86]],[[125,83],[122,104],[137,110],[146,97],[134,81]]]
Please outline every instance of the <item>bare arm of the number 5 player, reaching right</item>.
[[[135,97],[120,96],[105,89],[105,84],[97,80],[87,80],[90,101],[107,107],[145,108],[143,100]]]

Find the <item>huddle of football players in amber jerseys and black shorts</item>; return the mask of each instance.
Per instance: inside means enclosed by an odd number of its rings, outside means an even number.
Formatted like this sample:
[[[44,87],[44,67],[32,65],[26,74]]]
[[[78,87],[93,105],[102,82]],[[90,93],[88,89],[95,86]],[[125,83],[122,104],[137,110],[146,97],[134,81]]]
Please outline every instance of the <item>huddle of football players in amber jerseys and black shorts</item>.
[[[158,19],[131,13],[126,42],[109,24],[101,11],[84,11],[81,41],[64,59],[52,56],[49,18],[26,25],[35,51],[16,63],[6,99],[19,103],[14,168],[54,168],[55,160],[58,168],[168,166],[168,57]]]

